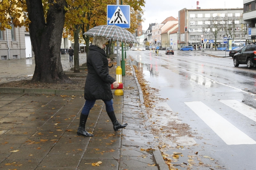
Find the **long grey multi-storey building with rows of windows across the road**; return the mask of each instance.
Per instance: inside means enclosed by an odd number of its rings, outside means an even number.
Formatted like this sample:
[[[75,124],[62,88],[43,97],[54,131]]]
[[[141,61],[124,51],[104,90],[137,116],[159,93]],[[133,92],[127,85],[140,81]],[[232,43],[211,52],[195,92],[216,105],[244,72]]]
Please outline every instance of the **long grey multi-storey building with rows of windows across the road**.
[[[223,42],[223,37],[233,42],[245,42],[245,26],[240,23],[242,8],[234,9],[182,9],[179,11],[178,48],[185,45],[197,47],[201,38],[205,49],[212,48],[209,40]],[[186,31],[185,31],[186,27]]]

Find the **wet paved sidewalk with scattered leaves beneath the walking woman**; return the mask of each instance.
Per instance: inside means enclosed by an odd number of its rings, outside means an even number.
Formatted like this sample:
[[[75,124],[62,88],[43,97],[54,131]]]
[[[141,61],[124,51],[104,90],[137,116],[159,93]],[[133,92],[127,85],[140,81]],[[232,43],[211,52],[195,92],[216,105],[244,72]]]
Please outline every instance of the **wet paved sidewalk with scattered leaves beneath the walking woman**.
[[[12,62],[20,61],[10,62],[10,70],[19,74],[11,78],[9,70],[0,70],[0,77],[19,80],[15,77],[31,74]],[[69,61],[63,59],[62,64],[69,68]],[[110,74],[115,77],[114,67]],[[114,108],[117,119],[128,126],[114,132],[103,101],[97,100],[86,123],[92,138],[76,136],[85,102],[82,95],[1,93],[0,169],[169,170],[148,128],[136,75],[122,79],[124,95],[114,96]],[[155,151],[144,151],[148,148]],[[98,161],[102,164],[92,165]]]

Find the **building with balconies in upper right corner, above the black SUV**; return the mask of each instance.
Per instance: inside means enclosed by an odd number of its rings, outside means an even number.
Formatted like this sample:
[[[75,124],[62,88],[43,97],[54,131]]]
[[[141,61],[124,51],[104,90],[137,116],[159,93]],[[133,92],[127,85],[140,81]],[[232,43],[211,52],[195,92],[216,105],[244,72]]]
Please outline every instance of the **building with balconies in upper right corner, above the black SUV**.
[[[243,21],[251,28],[250,42],[256,42],[256,0],[243,0]]]

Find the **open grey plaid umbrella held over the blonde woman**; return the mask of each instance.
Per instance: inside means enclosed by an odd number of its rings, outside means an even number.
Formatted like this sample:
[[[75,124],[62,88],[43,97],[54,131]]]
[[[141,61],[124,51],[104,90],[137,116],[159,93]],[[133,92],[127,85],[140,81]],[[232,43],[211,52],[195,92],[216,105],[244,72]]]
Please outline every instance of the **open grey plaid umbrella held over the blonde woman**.
[[[137,43],[136,38],[124,28],[116,25],[100,25],[95,26],[84,33],[84,35],[93,37],[93,36],[103,36],[113,41],[119,41],[124,43]]]

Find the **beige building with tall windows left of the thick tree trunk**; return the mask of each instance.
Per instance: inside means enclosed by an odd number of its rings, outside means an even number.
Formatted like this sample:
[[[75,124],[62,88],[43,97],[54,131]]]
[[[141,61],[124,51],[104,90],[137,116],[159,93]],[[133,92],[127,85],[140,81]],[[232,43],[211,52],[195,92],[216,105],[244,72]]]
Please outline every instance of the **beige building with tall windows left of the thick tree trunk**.
[[[24,59],[32,57],[29,32],[25,27],[0,30],[1,60]]]

